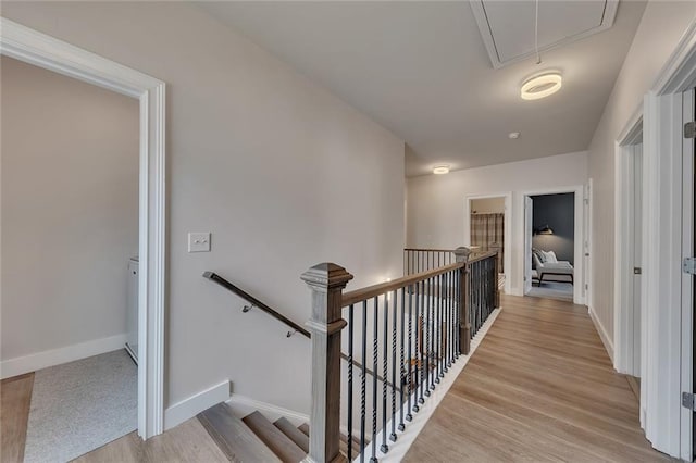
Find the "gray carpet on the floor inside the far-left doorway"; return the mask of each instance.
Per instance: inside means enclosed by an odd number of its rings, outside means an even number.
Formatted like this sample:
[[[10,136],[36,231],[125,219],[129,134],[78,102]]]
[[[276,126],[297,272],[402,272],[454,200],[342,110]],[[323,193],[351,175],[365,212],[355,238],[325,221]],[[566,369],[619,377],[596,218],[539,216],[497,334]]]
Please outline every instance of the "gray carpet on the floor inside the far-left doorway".
[[[134,431],[137,373],[125,350],[36,372],[25,463],[66,462]]]

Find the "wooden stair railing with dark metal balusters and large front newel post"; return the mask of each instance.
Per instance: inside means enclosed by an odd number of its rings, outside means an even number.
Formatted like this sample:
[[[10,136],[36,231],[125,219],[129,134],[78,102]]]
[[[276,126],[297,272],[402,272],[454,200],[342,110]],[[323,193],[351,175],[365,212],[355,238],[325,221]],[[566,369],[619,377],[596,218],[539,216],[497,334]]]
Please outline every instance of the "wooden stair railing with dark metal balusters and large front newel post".
[[[458,248],[453,254],[455,263],[350,292],[344,289],[352,275],[339,265],[319,264],[302,274],[312,290],[307,324],[312,331],[309,461],[338,456],[341,381],[347,391],[348,441],[355,428],[360,442],[358,455],[348,447],[348,460],[377,461],[376,449],[389,451],[388,441],[398,439],[397,430],[406,429],[460,354],[469,353],[474,331],[498,306],[497,253],[474,256]],[[358,354],[363,365],[371,364],[400,390],[380,387],[374,378],[368,383],[364,374],[356,381],[351,368],[340,377],[344,328],[348,358]]]

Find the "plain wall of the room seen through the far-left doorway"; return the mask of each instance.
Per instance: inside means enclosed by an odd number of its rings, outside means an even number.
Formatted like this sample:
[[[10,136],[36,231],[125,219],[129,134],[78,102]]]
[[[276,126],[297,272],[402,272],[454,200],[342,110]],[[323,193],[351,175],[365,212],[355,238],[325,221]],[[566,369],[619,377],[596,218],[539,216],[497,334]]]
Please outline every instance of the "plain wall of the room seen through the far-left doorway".
[[[138,101],[5,57],[1,68],[0,359],[123,335]]]

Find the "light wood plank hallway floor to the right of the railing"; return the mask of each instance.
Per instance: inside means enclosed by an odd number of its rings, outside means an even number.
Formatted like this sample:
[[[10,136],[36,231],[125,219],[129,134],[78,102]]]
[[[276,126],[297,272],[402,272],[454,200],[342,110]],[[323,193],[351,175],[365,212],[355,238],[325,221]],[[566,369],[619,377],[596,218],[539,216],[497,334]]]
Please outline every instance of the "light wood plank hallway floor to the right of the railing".
[[[405,461],[670,461],[644,438],[638,402],[586,308],[517,297],[501,305]]]

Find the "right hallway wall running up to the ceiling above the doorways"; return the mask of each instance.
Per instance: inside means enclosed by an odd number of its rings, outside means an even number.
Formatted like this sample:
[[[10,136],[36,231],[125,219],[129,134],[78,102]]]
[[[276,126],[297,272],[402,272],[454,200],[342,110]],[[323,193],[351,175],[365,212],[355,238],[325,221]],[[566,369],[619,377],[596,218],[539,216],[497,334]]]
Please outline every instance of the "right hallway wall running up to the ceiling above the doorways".
[[[695,20],[696,2],[649,2],[589,146],[594,183],[593,268],[596,320],[613,340],[614,142],[649,90],[680,38]]]

